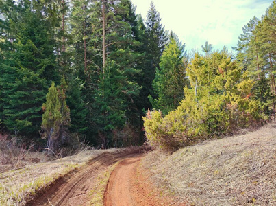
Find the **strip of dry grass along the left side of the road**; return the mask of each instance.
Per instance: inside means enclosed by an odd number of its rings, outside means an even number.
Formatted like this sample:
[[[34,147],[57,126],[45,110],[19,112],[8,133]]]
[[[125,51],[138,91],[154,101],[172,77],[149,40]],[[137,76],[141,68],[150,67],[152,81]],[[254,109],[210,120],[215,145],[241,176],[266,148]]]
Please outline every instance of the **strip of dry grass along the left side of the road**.
[[[31,196],[103,152],[113,153],[118,150],[83,150],[70,157],[3,172],[0,174],[0,205],[25,205]]]

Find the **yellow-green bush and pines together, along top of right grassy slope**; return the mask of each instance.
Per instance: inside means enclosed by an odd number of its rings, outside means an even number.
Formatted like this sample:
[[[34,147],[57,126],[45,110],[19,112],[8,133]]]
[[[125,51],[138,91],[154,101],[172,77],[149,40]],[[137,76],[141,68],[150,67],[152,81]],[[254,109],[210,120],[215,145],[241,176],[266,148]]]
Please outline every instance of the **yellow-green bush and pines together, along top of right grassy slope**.
[[[184,98],[169,112],[160,106],[144,117],[151,145],[177,150],[275,120],[276,1],[242,30],[236,55],[227,48],[212,52],[208,42],[203,54],[195,51],[185,69]]]

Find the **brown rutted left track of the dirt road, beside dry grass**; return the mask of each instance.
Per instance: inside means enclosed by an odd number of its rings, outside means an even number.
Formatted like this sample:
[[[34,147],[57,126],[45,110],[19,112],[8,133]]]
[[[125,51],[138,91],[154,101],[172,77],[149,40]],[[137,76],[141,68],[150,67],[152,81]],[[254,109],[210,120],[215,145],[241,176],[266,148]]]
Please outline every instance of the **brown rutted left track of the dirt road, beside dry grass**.
[[[108,166],[127,157],[141,155],[141,149],[127,150],[115,154],[103,153],[86,168],[80,170],[70,179],[60,179],[44,194],[27,205],[89,205],[89,192],[95,186],[97,176]]]

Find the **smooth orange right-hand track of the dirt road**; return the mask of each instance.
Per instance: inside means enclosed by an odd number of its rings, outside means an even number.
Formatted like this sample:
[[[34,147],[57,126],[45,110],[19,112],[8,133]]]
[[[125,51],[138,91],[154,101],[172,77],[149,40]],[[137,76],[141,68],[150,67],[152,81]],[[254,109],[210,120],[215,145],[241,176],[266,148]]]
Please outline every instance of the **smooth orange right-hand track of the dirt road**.
[[[153,186],[145,168],[140,165],[143,155],[126,158],[110,175],[105,190],[105,206],[160,206],[177,205],[171,196],[162,195],[162,190]]]

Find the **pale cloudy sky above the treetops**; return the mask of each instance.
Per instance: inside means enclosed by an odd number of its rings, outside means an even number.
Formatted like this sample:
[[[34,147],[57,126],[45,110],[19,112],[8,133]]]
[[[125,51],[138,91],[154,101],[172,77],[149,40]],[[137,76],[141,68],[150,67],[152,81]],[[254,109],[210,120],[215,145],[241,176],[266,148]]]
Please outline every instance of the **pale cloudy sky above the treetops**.
[[[259,19],[273,0],[153,0],[156,10],[160,13],[162,25],[166,30],[177,34],[189,52],[197,49],[205,41],[214,49],[229,51],[238,43],[242,27],[253,16]],[[136,5],[136,14],[147,19],[151,0],[132,0]]]

